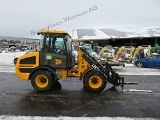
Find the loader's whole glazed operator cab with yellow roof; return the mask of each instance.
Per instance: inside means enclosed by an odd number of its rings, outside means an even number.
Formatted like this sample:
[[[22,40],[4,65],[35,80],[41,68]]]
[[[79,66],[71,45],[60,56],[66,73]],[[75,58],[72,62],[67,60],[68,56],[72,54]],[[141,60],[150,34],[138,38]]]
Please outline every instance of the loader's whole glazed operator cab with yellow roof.
[[[65,31],[47,30],[38,33],[40,38],[40,66],[56,69],[72,68],[75,59],[72,55],[71,37]]]

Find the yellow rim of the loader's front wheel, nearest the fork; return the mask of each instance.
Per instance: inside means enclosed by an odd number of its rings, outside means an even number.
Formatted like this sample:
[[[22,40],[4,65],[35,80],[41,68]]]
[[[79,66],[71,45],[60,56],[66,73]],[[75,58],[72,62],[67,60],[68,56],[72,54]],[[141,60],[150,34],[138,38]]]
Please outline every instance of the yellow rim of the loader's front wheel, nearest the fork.
[[[90,77],[90,79],[89,79],[89,86],[91,88],[97,89],[101,85],[102,85],[102,79],[99,76],[94,75],[94,76]]]

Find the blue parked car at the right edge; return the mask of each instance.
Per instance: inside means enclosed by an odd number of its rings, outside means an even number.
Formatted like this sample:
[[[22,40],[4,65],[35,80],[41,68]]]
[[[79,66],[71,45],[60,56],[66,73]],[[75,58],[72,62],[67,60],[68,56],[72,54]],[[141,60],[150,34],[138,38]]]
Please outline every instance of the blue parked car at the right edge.
[[[160,67],[160,54],[137,59],[134,61],[134,65],[137,67]]]

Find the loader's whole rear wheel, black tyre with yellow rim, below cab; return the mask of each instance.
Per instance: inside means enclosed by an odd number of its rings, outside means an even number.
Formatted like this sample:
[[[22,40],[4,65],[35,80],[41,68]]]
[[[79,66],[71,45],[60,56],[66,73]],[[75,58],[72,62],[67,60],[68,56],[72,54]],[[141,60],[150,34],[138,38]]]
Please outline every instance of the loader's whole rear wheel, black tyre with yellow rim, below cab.
[[[38,70],[32,75],[31,84],[37,91],[49,91],[55,84],[55,80],[47,71]]]

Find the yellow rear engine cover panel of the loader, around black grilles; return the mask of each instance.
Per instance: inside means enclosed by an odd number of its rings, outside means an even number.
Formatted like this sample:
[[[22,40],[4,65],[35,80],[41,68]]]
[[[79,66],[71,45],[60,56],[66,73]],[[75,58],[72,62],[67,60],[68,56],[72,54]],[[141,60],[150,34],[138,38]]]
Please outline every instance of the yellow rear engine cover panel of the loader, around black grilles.
[[[29,57],[33,57],[35,56],[36,57],[36,62],[35,64],[20,64],[20,60],[22,59],[25,59],[25,58],[29,58]],[[16,67],[15,67],[15,72],[16,72],[16,75],[18,77],[20,77],[21,79],[23,80],[29,80],[29,75],[30,73],[23,73],[23,72],[20,72],[20,68],[36,68],[39,66],[39,52],[30,52],[30,53],[27,53],[23,56],[20,56],[18,57],[18,60],[17,60],[17,63],[16,63]]]

